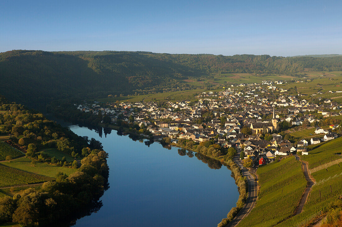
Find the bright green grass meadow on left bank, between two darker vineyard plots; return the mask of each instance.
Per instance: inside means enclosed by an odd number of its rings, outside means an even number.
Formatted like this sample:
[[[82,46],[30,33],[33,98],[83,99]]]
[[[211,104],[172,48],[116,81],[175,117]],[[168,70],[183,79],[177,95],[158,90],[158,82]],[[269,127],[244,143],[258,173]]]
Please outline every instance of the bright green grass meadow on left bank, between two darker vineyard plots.
[[[46,177],[55,177],[58,172],[64,172],[67,175],[70,173],[76,172],[77,169],[67,168],[67,167],[59,167],[54,165],[49,165],[46,163],[37,162],[35,166],[31,164],[31,161],[27,157],[21,157],[16,160],[12,160],[10,162],[2,162],[2,165],[12,167],[15,169],[20,169],[29,173],[35,173]]]

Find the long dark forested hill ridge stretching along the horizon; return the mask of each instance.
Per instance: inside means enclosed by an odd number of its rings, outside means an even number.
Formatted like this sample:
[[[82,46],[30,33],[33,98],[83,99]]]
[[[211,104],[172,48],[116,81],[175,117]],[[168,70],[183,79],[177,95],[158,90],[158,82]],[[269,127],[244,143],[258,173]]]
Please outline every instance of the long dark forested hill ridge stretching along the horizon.
[[[0,53],[0,89],[11,101],[37,108],[56,99],[194,88],[184,79],[212,73],[286,74],[306,68],[342,71],[342,57],[13,50]]]

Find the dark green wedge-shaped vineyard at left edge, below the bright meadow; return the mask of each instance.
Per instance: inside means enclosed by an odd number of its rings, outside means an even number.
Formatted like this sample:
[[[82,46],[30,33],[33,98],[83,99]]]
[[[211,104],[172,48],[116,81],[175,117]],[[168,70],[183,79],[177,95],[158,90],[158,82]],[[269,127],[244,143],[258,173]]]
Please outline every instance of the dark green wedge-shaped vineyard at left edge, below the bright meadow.
[[[53,180],[53,178],[0,165],[0,187],[33,184],[50,180]]]

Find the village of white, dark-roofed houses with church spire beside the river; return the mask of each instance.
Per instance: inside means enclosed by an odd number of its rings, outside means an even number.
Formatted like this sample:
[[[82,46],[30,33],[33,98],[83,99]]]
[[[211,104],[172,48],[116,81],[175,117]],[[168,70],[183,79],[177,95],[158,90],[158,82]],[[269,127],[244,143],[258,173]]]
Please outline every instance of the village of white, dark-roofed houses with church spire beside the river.
[[[182,138],[199,143],[212,140],[222,148],[241,149],[245,158],[262,165],[272,162],[277,155],[308,154],[307,146],[339,136],[335,130],[339,124],[323,129],[318,127],[318,122],[342,115],[340,104],[323,97],[315,97],[320,105],[309,103],[305,97],[302,99],[293,91],[277,87],[283,83],[286,81],[224,87],[220,92],[202,92],[193,101],[164,101],[163,106],[158,106],[158,102],[104,105],[95,101],[75,104],[75,107],[93,115],[106,114],[113,124],[118,121],[137,124],[159,140],[162,137],[170,137],[175,142]],[[284,122],[288,128],[304,128],[304,125],[315,128],[314,134],[291,143],[280,133],[287,129],[281,128]]]

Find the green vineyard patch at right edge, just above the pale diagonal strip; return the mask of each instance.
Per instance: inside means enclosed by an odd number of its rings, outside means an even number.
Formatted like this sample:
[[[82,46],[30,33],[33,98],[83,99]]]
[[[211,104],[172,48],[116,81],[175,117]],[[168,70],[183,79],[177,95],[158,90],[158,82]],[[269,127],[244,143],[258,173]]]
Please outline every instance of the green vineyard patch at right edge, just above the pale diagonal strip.
[[[342,137],[330,140],[323,145],[309,151],[308,155],[302,155],[302,160],[308,162],[309,168],[315,168],[322,164],[341,158]]]

